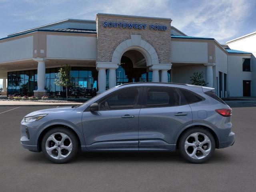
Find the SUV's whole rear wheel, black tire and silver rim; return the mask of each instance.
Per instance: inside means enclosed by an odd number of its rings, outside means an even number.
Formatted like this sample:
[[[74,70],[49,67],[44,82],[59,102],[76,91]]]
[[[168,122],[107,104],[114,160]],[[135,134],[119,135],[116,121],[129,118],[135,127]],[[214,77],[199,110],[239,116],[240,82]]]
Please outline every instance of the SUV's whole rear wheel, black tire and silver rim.
[[[178,145],[180,154],[192,163],[205,162],[215,150],[214,137],[203,128],[192,128],[184,132]]]

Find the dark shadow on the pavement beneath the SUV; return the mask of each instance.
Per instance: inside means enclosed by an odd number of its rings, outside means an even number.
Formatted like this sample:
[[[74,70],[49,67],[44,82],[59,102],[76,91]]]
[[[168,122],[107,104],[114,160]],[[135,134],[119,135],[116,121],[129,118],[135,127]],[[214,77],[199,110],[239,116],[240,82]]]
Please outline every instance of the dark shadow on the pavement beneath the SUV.
[[[51,163],[42,152],[31,153],[24,156],[24,160],[31,163]],[[91,162],[170,162],[170,163],[188,163],[179,152],[78,152],[76,158],[70,163],[91,163]],[[232,162],[230,154],[216,150],[212,158],[206,163],[213,162]]]

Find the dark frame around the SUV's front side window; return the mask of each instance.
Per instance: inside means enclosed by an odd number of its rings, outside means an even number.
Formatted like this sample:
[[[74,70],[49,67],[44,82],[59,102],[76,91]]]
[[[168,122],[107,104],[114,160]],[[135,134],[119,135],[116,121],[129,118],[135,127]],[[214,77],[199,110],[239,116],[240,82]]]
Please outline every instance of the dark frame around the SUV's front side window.
[[[142,101],[142,87],[141,86],[132,86],[132,87],[125,87],[125,88],[121,88],[118,90],[115,90],[114,92],[111,92],[110,94],[100,98],[99,100],[97,100],[94,103],[100,103],[104,100],[108,100],[109,98],[111,98],[112,96],[114,96],[114,94],[116,94],[116,92],[122,91],[122,90],[126,90],[129,88],[138,88],[138,97],[137,97],[137,103],[134,104],[133,108],[124,108],[124,109],[107,109],[107,110],[98,110],[98,111],[114,111],[114,110],[130,110],[130,109],[140,109],[141,108],[141,101]],[[88,108],[86,108],[85,110],[86,112],[90,111],[90,106],[88,106]]]

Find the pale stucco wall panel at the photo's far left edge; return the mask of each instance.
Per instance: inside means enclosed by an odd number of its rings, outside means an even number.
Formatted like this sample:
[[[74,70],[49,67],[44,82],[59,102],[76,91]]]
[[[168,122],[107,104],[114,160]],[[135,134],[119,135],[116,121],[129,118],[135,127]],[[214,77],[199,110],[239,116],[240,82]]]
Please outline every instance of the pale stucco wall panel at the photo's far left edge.
[[[33,36],[0,42],[0,62],[33,57]]]

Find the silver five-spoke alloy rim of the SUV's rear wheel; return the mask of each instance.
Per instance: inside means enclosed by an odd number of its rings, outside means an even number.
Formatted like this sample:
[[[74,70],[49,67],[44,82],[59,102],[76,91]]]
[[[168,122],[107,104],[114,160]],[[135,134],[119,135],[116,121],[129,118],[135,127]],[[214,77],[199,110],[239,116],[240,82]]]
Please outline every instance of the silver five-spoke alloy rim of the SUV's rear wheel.
[[[186,138],[184,147],[190,158],[203,159],[211,152],[212,144],[206,134],[196,132]]]

